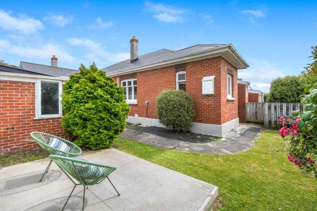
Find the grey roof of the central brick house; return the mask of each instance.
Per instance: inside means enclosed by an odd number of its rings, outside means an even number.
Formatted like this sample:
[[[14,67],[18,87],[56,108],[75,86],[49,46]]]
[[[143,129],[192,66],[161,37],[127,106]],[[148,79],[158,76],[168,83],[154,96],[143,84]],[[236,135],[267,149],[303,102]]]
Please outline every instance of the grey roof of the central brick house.
[[[107,72],[107,73],[111,73],[111,72],[115,72],[115,71],[119,71],[119,70],[127,70],[127,69],[137,68],[137,67],[141,67],[143,65],[164,61],[166,59],[171,59],[173,57],[179,57],[179,56],[183,56],[183,55],[190,54],[190,53],[197,53],[200,51],[217,48],[219,46],[224,46],[224,44],[196,45],[196,46],[191,46],[189,48],[181,49],[178,51],[169,50],[169,49],[162,49],[162,50],[159,50],[156,52],[140,55],[140,56],[138,56],[138,60],[136,60],[132,63],[130,62],[130,59],[127,59],[125,61],[113,64],[113,65],[108,66],[108,67],[105,67],[102,70]]]

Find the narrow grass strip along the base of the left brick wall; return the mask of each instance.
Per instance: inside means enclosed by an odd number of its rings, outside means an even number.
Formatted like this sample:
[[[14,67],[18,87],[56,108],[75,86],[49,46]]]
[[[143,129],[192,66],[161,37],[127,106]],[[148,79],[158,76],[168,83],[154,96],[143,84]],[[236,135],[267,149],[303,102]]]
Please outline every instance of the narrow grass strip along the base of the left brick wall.
[[[46,157],[47,154],[42,149],[4,154],[0,156],[0,168]]]

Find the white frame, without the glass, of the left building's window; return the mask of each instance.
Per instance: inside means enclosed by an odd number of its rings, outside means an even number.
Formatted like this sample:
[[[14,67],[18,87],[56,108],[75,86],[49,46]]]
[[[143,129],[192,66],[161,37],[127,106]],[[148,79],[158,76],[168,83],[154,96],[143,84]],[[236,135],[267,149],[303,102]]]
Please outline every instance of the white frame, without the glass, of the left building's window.
[[[59,113],[57,114],[41,114],[41,82],[54,82],[59,84]],[[37,79],[35,86],[35,118],[54,118],[54,117],[62,117],[63,116],[63,108],[62,108],[62,92],[63,92],[63,82],[57,80],[49,80],[49,79]]]

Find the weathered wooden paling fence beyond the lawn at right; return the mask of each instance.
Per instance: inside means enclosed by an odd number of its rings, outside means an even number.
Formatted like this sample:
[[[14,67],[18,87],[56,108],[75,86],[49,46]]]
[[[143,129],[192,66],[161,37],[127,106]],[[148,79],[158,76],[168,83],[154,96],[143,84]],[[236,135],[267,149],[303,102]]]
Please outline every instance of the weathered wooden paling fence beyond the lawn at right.
[[[302,109],[300,103],[246,103],[246,119],[265,127],[279,127],[280,116],[291,116],[299,109]]]

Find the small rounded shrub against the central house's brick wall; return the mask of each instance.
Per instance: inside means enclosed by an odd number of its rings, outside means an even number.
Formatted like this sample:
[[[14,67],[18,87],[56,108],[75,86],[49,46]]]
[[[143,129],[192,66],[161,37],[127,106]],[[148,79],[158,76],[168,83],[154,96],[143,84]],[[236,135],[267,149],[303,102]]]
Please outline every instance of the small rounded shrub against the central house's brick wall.
[[[156,99],[156,111],[160,123],[176,131],[188,130],[195,115],[192,99],[182,90],[163,91]]]

